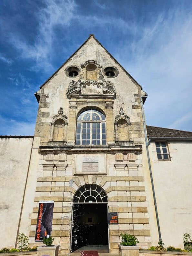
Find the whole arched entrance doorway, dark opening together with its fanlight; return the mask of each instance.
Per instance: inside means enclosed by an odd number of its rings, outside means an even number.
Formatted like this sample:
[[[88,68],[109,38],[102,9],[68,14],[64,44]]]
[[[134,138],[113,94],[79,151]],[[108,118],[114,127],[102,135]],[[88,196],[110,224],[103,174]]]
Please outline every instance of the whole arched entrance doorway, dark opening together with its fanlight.
[[[96,184],[84,185],[76,191],[73,199],[72,252],[85,246],[108,250],[107,204],[106,192]]]

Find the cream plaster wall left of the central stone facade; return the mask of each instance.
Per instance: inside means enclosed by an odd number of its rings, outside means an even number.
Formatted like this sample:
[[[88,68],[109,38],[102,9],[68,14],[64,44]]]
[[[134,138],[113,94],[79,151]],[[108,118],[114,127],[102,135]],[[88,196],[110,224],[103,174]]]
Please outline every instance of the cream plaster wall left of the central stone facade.
[[[33,138],[0,138],[0,143],[0,248],[13,248]]]

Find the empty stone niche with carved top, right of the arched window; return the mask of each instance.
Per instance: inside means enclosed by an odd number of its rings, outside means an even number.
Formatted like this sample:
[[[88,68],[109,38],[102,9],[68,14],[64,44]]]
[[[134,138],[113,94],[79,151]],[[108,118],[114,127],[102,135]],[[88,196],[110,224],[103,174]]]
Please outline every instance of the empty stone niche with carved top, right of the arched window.
[[[128,129],[128,126],[131,124],[129,119],[130,118],[125,115],[123,108],[120,108],[119,115],[116,115],[114,123],[116,143],[131,140]]]

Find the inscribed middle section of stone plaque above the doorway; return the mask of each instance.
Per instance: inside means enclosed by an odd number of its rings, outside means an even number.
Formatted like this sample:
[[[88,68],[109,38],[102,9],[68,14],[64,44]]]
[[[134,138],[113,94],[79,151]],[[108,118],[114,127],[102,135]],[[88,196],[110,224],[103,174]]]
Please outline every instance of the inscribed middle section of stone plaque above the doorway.
[[[98,172],[99,171],[98,156],[83,156],[82,171]]]

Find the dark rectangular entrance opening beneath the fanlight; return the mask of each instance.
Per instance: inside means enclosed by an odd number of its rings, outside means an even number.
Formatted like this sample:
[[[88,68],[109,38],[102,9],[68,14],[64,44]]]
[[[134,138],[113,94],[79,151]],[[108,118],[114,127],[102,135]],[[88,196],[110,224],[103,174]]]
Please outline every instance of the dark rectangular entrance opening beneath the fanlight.
[[[73,206],[71,250],[86,245],[108,246],[106,203],[77,203]]]

